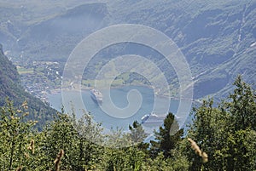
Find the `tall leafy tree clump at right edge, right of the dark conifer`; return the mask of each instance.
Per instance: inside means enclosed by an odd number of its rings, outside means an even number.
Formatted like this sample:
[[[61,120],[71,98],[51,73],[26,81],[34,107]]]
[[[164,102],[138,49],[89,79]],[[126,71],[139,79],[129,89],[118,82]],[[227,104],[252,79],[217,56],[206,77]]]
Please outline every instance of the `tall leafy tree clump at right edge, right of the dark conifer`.
[[[212,100],[204,100],[201,107],[195,109],[195,120],[188,137],[207,152],[209,162],[203,164],[201,157],[188,145],[183,151],[192,162],[190,170],[255,168],[255,93],[240,76],[234,84],[234,93],[218,107],[212,106]]]

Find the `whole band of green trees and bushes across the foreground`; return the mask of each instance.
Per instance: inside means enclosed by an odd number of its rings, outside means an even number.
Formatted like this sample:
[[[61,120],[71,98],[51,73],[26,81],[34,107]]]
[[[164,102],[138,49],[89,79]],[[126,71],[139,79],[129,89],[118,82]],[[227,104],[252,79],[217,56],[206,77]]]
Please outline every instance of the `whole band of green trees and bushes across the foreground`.
[[[186,135],[170,133],[177,123],[169,113],[149,146],[140,143],[146,134],[139,123],[106,136],[87,114],[79,121],[58,114],[37,132],[24,121],[26,103],[17,110],[7,101],[0,109],[1,170],[255,170],[256,94],[241,77],[234,84],[217,107],[204,100],[195,108]]]

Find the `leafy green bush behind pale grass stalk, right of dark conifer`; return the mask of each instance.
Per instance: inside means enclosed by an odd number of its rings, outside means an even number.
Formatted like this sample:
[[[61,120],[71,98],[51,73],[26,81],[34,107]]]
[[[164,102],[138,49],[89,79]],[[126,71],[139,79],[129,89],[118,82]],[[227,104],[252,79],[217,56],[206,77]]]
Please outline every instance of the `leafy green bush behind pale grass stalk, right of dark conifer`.
[[[216,156],[215,152],[223,149],[226,144],[223,139],[227,136],[226,127],[229,114],[214,108],[212,105],[213,100],[203,100],[199,108],[193,109],[194,119],[187,136],[195,140],[201,151],[207,152],[210,159],[214,159],[203,163],[201,157],[195,154],[187,142],[187,148],[183,151],[191,161],[189,170],[200,170],[202,167],[218,170],[222,166],[223,157],[216,158],[218,155]]]

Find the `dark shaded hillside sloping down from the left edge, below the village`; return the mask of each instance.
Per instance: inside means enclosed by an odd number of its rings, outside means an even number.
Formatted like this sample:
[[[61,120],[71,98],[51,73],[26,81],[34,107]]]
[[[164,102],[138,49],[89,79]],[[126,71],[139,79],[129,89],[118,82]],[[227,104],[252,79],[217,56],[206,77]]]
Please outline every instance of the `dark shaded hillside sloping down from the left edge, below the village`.
[[[42,125],[51,120],[56,112],[49,105],[25,91],[20,84],[20,75],[16,67],[4,56],[0,44],[0,106],[3,106],[6,98],[14,100],[15,106],[20,106],[27,101],[28,111],[31,112],[27,119],[40,120],[38,128],[42,128]]]

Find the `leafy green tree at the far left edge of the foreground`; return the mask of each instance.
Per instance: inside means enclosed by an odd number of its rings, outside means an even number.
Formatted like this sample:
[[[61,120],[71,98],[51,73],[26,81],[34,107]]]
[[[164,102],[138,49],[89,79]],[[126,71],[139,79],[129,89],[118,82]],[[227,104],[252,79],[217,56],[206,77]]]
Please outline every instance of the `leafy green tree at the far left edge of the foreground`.
[[[27,108],[26,103],[22,108]],[[14,170],[26,165],[26,155],[33,153],[33,149],[29,151],[26,147],[32,138],[31,128],[35,122],[24,122],[28,112],[21,110],[16,109],[9,100],[6,106],[0,108],[1,170]]]

